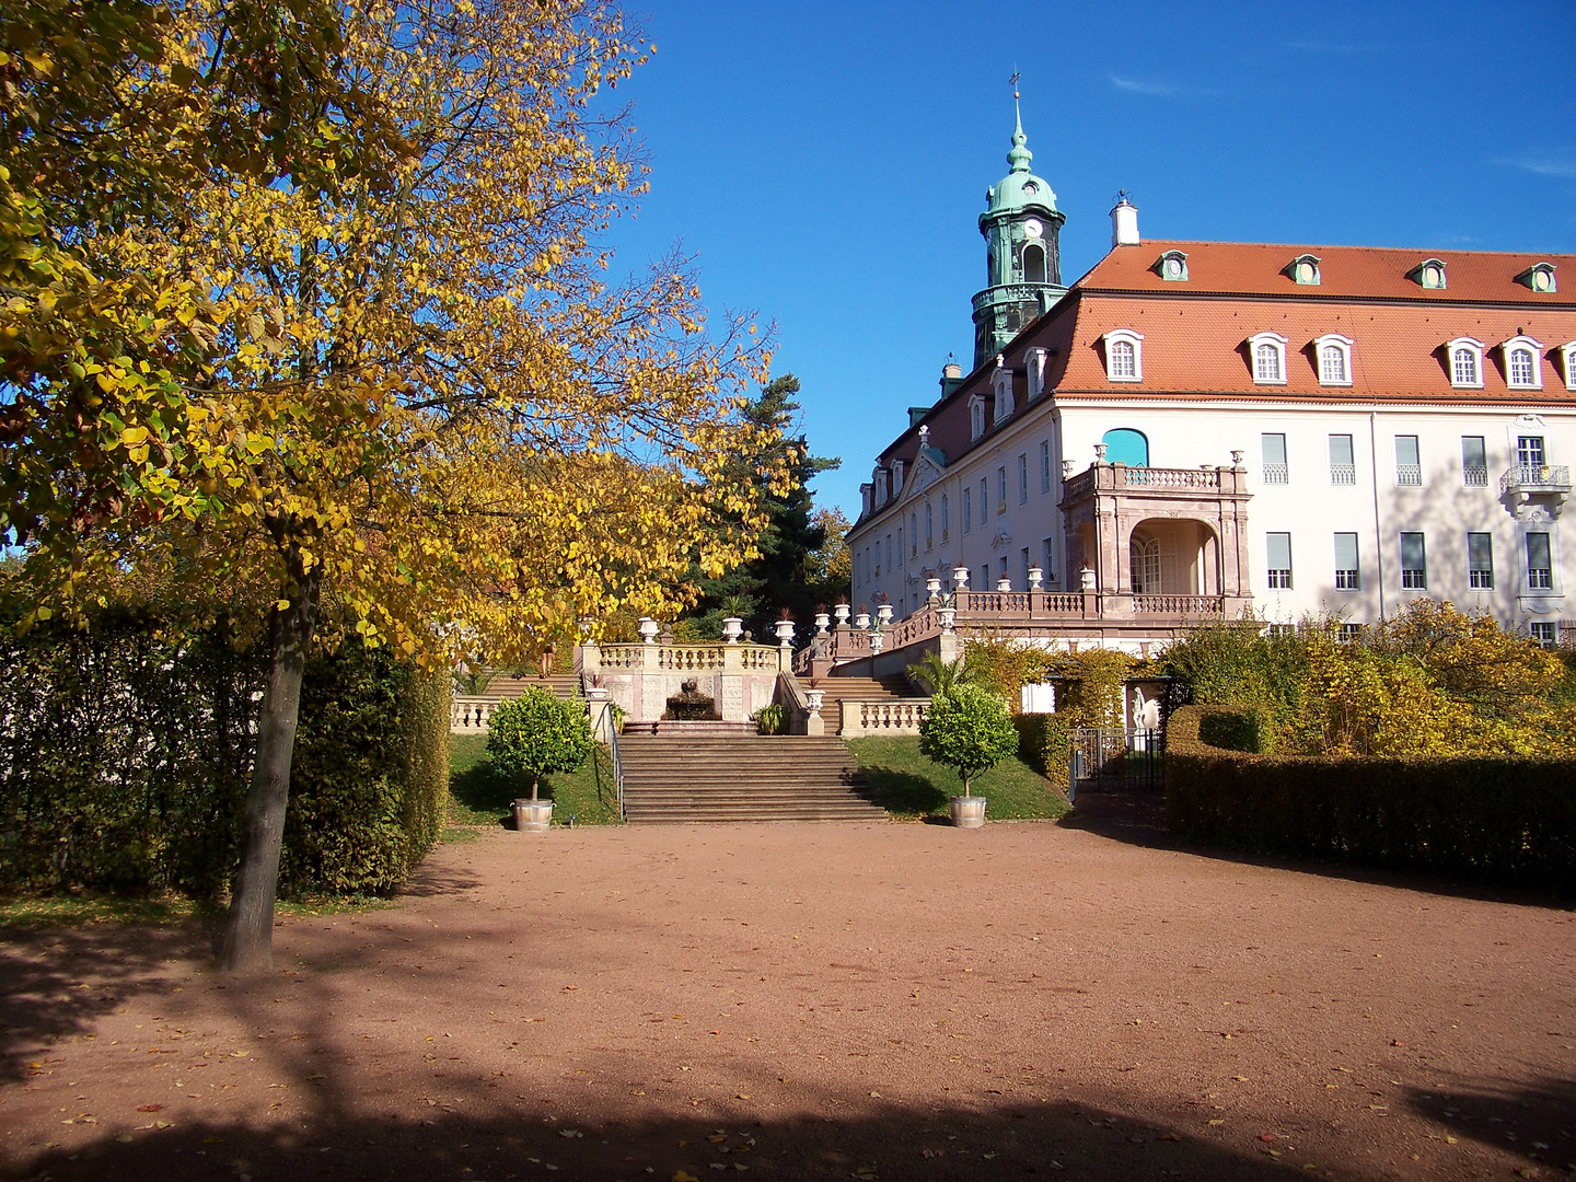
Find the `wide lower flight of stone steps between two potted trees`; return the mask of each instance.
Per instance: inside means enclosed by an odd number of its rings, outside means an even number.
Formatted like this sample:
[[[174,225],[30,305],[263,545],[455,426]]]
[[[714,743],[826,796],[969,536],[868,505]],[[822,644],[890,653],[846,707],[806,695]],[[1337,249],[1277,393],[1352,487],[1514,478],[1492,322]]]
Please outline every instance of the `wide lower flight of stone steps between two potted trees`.
[[[886,816],[837,738],[626,734],[618,749],[630,824]]]

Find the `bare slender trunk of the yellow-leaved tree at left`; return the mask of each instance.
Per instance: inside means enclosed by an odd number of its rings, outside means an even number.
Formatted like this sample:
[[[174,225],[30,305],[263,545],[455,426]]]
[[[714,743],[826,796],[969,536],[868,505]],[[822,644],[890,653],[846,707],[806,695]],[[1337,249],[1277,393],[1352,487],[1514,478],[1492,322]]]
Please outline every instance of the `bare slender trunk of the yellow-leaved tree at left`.
[[[292,567],[296,567],[293,561]],[[301,675],[317,621],[318,574],[292,569],[288,608],[274,607],[268,626],[268,686],[257,716],[257,760],[246,794],[241,868],[219,965],[227,972],[268,972],[274,965],[274,894],[290,799],[290,760],[301,712]]]

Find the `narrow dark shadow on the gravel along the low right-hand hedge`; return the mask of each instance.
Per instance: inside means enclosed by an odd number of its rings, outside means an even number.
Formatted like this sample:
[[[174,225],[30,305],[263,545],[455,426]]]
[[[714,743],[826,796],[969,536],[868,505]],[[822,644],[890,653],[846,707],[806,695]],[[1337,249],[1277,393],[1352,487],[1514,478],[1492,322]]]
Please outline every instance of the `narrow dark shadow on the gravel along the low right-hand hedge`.
[[[1392,870],[1354,862],[1330,862],[1288,854],[1259,854],[1251,849],[1236,849],[1231,846],[1198,845],[1182,840],[1166,829],[1166,797],[1160,791],[1130,788],[1080,791],[1075,812],[1064,816],[1057,824],[1064,829],[1083,829],[1124,845],[1136,845],[1146,849],[1180,849],[1217,862],[1237,862],[1267,870],[1292,870],[1303,875],[1344,878],[1351,883],[1387,886],[1401,890],[1423,890],[1431,895],[1474,898],[1488,903],[1548,906],[1563,911],[1570,911],[1573,906],[1573,900],[1570,898],[1541,895],[1486,879],[1448,879],[1422,870]]]

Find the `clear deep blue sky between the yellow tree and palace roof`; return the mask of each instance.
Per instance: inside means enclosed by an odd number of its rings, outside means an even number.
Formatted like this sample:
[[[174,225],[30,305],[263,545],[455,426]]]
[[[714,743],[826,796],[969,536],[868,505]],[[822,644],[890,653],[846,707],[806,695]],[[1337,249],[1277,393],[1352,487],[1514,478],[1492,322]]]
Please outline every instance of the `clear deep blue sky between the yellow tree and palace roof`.
[[[635,19],[643,9],[629,9]],[[1064,282],[1144,238],[1576,252],[1576,3],[657,3],[618,88],[651,162],[623,268],[682,243],[857,514],[875,454],[972,359],[976,219],[1023,74]],[[1563,281],[1576,284],[1576,276]]]

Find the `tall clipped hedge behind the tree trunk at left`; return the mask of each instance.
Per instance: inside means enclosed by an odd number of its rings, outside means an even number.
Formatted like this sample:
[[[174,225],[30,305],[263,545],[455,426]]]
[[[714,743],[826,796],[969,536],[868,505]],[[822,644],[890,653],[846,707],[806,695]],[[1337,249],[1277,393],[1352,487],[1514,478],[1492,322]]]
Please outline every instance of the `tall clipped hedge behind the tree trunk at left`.
[[[235,873],[262,654],[221,623],[167,638],[113,610],[0,629],[0,889],[222,894]],[[355,640],[307,663],[281,894],[385,894],[448,802],[449,686]]]

